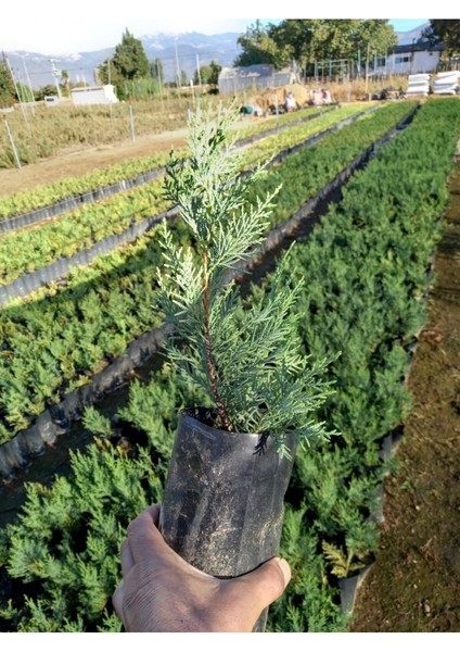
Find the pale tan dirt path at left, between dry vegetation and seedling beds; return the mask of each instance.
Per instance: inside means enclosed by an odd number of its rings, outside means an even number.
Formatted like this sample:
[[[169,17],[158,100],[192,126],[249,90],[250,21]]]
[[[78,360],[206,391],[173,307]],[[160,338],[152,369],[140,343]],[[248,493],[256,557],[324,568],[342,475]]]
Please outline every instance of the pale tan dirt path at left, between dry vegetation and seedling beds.
[[[186,142],[187,128],[165,131],[152,136],[142,136],[135,141],[126,140],[92,149],[81,149],[61,154],[18,168],[0,170],[0,197],[7,197],[22,190],[31,190],[37,186],[50,184],[72,176],[81,176],[98,167],[114,165],[126,159],[149,156],[154,152],[180,148]]]

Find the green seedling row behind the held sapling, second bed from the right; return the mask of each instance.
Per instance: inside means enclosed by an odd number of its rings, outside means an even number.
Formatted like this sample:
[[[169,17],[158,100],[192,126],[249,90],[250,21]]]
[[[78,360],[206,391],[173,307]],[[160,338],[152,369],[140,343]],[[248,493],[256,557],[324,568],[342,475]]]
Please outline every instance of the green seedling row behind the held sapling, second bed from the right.
[[[270,170],[255,190],[284,184],[273,225],[290,217],[411,108],[384,106]],[[186,242],[183,226],[175,228]],[[0,443],[89,383],[135,338],[159,326],[162,317],[152,309],[161,261],[155,235],[153,229],[133,246],[71,272],[65,284],[53,284],[1,311]]]

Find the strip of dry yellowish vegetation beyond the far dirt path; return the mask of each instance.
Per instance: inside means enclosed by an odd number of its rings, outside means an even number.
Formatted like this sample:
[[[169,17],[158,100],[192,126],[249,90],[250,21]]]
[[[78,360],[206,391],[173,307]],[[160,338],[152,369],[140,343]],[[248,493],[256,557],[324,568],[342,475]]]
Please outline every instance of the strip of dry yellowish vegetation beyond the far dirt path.
[[[328,86],[332,99],[338,102],[368,100],[372,93],[380,93],[383,88],[405,88],[406,79],[397,77],[386,80],[357,80],[348,83],[325,82],[307,86],[290,87],[299,105],[308,101],[311,88]],[[269,89],[264,93],[244,93],[237,101],[251,102],[278,96],[279,103],[285,89]],[[203,96],[206,101],[231,101],[232,97]],[[60,105],[44,106],[37,102],[31,105],[16,106],[11,113],[4,114],[14,140],[22,165],[36,163],[44,159],[81,151],[86,148],[119,143],[132,139],[131,115],[135,137],[151,136],[171,131],[187,124],[188,110],[196,102],[196,93],[184,91],[178,95],[175,90],[165,89],[162,98],[133,101],[113,105],[74,106],[68,100]],[[261,102],[264,105],[272,103]],[[0,168],[15,167],[15,156],[7,128],[0,129]]]

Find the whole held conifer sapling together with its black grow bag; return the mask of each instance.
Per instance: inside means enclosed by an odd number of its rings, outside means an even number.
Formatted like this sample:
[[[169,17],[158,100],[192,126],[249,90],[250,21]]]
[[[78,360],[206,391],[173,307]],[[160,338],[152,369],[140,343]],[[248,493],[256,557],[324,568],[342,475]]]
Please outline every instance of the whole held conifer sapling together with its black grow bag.
[[[234,115],[190,118],[190,158],[171,155],[166,195],[192,244],[166,224],[159,306],[166,353],[207,397],[182,412],[162,501],[159,529],[190,564],[218,577],[245,574],[278,554],[297,442],[327,437],[316,411],[330,394],[325,362],[302,355],[299,287],[284,256],[264,291],[243,301],[235,275],[269,228],[278,189],[247,200],[263,174],[240,175]],[[254,631],[264,631],[267,610]]]

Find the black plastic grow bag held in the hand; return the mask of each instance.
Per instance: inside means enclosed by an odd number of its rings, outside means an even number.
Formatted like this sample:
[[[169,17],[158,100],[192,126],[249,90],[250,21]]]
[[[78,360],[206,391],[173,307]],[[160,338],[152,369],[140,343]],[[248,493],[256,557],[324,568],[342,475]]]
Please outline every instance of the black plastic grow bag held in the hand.
[[[210,417],[210,418],[209,418]],[[219,578],[253,570],[278,555],[292,459],[272,438],[212,427],[212,411],[180,415],[159,529],[187,562]],[[267,610],[253,631],[264,631]]]

